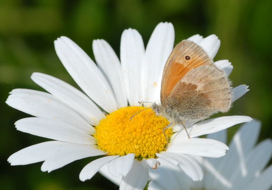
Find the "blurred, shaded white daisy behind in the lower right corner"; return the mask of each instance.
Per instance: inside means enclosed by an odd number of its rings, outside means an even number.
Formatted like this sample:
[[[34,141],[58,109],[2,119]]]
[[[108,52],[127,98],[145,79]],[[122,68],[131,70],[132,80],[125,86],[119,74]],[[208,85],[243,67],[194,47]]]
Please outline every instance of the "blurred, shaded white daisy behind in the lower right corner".
[[[152,180],[148,189],[268,190],[272,186],[272,165],[265,166],[272,157],[272,141],[265,139],[255,145],[260,125],[256,120],[244,124],[230,142],[226,156],[200,159],[204,170],[202,181],[192,181],[178,167],[162,166],[150,172]],[[227,131],[208,137],[226,143]]]

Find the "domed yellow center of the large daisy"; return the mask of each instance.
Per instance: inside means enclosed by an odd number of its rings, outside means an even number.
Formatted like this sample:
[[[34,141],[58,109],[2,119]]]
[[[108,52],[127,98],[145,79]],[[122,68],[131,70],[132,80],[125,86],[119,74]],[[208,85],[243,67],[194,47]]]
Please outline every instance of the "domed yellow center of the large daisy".
[[[163,129],[169,121],[157,116],[152,109],[144,107],[125,107],[109,114],[96,126],[98,147],[108,155],[134,153],[135,158],[155,158],[156,153],[167,147],[172,129]],[[133,116],[133,117],[132,117]],[[166,138],[167,137],[167,138]]]

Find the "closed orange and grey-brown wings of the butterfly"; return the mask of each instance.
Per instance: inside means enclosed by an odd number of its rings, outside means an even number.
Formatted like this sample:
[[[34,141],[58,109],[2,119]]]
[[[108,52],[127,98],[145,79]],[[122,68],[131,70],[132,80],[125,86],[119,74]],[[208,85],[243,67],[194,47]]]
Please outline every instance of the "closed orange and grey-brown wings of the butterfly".
[[[167,114],[180,123],[227,112],[231,107],[231,87],[225,73],[195,43],[182,41],[177,46],[179,49],[173,50],[165,66],[164,76],[170,79],[164,77],[162,82],[161,102]],[[164,88],[169,84],[173,86],[167,91]]]

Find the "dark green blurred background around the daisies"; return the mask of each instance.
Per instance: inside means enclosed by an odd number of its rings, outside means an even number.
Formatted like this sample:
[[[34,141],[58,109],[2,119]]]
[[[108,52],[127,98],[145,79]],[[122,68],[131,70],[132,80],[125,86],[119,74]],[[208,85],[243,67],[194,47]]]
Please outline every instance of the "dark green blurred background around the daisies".
[[[5,100],[14,88],[39,88],[32,72],[43,72],[75,85],[58,60],[53,41],[67,36],[92,58],[92,40],[108,41],[119,55],[124,29],[137,29],[145,44],[162,21],[173,23],[175,44],[194,34],[216,34],[221,48],[215,60],[229,59],[234,86],[245,83],[250,91],[227,115],[247,115],[262,121],[260,139],[271,138],[271,0],[146,0],[146,1],[0,1],[0,111],[2,189],[117,189],[97,174],[81,182],[79,173],[90,158],[75,161],[50,174],[41,163],[10,166],[12,153],[47,139],[16,131],[14,122],[28,117],[8,107]],[[233,135],[238,127],[229,129]]]

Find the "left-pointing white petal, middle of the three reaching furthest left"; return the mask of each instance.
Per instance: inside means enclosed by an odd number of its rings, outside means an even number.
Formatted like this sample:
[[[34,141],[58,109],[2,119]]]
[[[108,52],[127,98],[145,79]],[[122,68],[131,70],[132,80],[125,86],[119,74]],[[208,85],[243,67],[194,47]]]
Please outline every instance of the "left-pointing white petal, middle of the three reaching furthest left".
[[[24,118],[15,123],[17,130],[53,140],[96,144],[96,139],[81,129],[62,121],[48,118]]]

